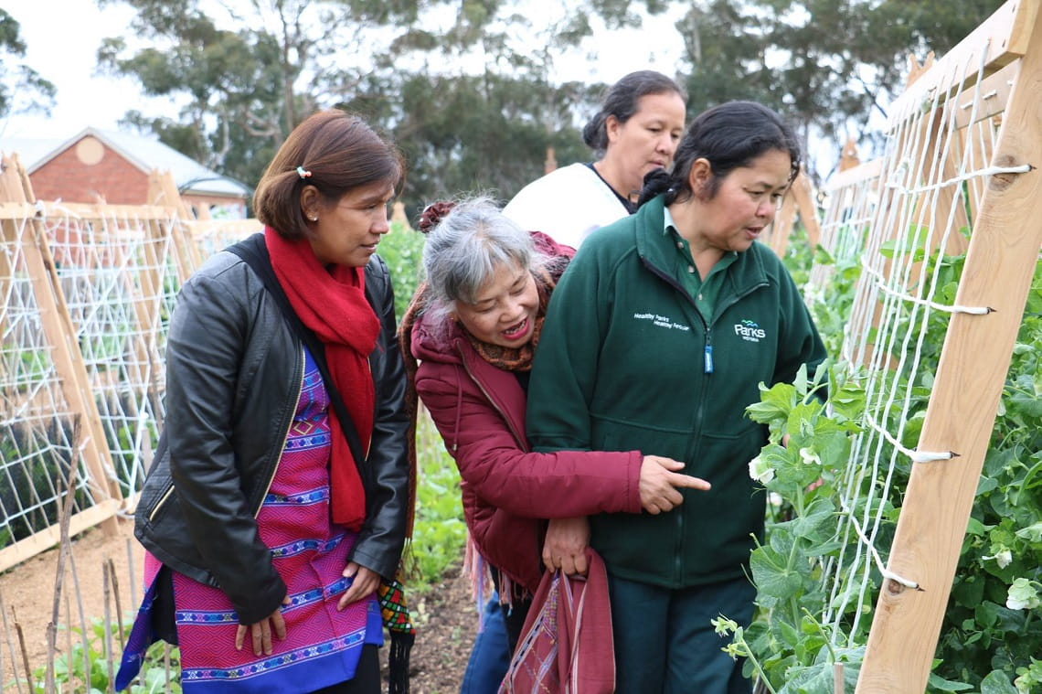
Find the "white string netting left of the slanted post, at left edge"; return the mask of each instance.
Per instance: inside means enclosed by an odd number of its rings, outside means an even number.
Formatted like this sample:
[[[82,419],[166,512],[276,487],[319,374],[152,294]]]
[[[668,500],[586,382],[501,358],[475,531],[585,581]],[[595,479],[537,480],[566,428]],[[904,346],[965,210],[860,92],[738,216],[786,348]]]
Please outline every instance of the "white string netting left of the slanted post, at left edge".
[[[97,486],[74,447],[89,436],[63,391],[55,367],[53,329],[45,314],[54,317],[53,295],[45,277],[33,277],[42,262],[29,217],[2,221],[0,242],[0,547],[24,540],[53,525],[57,519],[73,461],[79,463],[73,514],[94,505]],[[47,299],[41,305],[40,299]]]

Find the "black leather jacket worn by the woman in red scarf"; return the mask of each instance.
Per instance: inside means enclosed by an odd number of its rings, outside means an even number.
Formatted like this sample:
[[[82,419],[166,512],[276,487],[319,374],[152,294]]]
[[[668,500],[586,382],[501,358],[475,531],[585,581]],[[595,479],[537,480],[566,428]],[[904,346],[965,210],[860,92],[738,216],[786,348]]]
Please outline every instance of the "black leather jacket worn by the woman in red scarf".
[[[405,373],[387,265],[374,255],[365,272],[366,295],[380,319],[369,357],[376,415],[361,466],[366,521],[349,560],[391,577],[408,506]],[[141,493],[134,535],[170,568],[220,588],[241,623],[257,622],[286,595],[254,517],[300,395],[300,339],[256,273],[222,252],[181,288],[166,366],[164,440]]]

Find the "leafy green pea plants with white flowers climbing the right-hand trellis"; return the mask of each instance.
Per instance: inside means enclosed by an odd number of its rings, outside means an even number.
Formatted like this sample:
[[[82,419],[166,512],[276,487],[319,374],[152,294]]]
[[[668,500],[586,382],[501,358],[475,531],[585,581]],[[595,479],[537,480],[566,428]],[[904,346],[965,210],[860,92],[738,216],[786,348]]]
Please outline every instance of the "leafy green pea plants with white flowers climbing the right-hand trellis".
[[[937,270],[938,300],[952,301],[965,258],[936,253],[926,256],[917,241],[921,239],[920,229],[910,229],[905,240],[884,253],[914,254],[914,259],[924,264],[926,277]],[[822,316],[830,320],[834,306],[848,305],[853,291],[852,282],[844,278],[845,271],[836,269],[827,302],[833,305],[815,303],[819,320]],[[838,315],[845,315],[844,311],[840,308]],[[926,326],[922,353],[929,356],[922,357],[925,363],[936,364],[945,322]],[[902,334],[907,329],[898,326],[895,332]],[[911,355],[907,345],[887,348],[894,358]],[[1042,662],[1038,660],[1042,653],[1040,350],[1042,273],[1036,272],[941,626],[928,692],[1042,691]],[[828,675],[836,662],[845,663],[847,677],[855,678],[871,622],[863,615],[854,626],[852,615],[846,615],[839,634],[833,634],[815,619],[825,612],[828,600],[821,585],[821,567],[840,562],[844,555],[844,539],[836,534],[837,515],[844,513],[836,503],[836,485],[843,478],[850,438],[858,432],[865,411],[863,374],[836,364],[829,367],[828,377],[829,414],[813,397],[815,383],[808,382],[805,376],[793,385],[763,389],[761,402],[748,408],[753,420],[770,428],[769,444],[749,468],[773,500],[766,540],[750,557],[759,613],[748,629],[723,618],[718,627],[733,636],[733,653],[750,656],[746,674],[756,673],[776,694],[830,693]],[[929,370],[921,371],[921,381],[911,390],[903,442],[910,447],[918,440],[932,378]],[[789,437],[787,446],[782,445],[785,436]],[[882,457],[887,460],[889,450]],[[882,501],[879,548],[888,546],[909,473],[909,466],[895,471],[891,497]],[[878,481],[868,475],[862,484]],[[855,511],[861,514],[860,509]],[[840,573],[843,571],[841,567]],[[877,572],[872,572],[871,581],[872,589],[880,585]],[[861,608],[870,611],[872,604]],[[840,649],[830,643],[857,646]]]

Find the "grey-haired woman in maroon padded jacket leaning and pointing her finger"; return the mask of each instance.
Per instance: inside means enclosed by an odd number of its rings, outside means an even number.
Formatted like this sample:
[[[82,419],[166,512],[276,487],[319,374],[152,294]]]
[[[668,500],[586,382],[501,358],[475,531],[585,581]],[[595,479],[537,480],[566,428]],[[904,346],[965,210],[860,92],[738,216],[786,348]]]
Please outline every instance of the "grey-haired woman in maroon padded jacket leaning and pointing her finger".
[[[680,474],[683,463],[636,450],[531,452],[528,374],[547,301],[573,251],[523,231],[487,198],[431,205],[420,227],[429,229],[426,282],[399,342],[411,386],[460,468],[474,548],[510,605],[513,651],[542,565],[587,569],[587,539],[555,536],[554,519],[658,514],[680,501],[676,488],[709,485]]]

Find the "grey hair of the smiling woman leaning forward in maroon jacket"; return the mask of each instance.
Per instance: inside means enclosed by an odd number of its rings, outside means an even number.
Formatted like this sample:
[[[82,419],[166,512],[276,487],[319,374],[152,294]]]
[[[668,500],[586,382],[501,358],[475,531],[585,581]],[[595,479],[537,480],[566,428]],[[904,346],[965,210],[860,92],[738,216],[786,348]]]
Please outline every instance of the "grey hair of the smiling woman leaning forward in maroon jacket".
[[[497,267],[534,271],[545,261],[531,236],[503,216],[492,198],[462,200],[427,233],[423,269],[428,295],[423,312],[436,327],[444,326],[457,301],[475,302]]]

